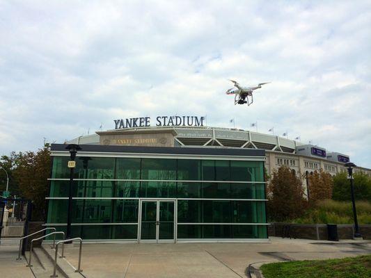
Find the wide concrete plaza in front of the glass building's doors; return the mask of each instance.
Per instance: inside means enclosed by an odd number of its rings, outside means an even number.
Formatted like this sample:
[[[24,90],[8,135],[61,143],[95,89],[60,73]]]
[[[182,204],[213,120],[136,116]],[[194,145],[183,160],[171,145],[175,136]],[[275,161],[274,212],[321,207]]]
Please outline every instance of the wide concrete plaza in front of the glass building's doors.
[[[67,245],[66,245],[67,246]],[[82,269],[88,278],[246,277],[250,263],[330,259],[371,254],[371,241],[271,238],[269,243],[84,244]],[[77,265],[78,245],[65,250]]]

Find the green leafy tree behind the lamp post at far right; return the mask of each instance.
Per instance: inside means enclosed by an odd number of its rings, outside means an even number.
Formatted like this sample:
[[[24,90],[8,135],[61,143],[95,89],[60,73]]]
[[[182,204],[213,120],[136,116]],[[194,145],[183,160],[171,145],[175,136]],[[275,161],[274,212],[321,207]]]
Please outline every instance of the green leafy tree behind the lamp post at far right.
[[[354,177],[354,198],[371,201],[371,177],[364,172],[356,172]],[[337,201],[350,201],[350,182],[347,173],[341,172],[333,177],[333,199]]]

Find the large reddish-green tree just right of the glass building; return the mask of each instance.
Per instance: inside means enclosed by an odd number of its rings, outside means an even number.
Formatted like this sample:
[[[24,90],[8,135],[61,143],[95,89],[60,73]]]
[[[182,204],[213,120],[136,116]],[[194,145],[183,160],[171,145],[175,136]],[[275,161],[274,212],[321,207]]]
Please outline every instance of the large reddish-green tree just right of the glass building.
[[[269,218],[276,221],[298,218],[307,206],[301,179],[286,166],[274,170],[268,186],[268,199]]]

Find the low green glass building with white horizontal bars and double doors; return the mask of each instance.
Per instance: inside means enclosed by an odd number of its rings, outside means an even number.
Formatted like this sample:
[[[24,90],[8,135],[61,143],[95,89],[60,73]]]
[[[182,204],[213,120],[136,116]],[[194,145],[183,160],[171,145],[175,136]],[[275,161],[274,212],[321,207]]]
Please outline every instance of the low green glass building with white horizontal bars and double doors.
[[[65,231],[70,154],[52,145],[47,223]],[[262,149],[80,145],[72,236],[176,243],[267,239]]]

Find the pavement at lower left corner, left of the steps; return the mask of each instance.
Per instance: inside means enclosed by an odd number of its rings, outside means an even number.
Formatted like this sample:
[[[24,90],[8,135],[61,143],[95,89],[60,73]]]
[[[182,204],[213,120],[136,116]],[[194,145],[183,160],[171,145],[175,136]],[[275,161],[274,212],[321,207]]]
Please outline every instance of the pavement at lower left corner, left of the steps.
[[[19,240],[1,238],[0,277],[1,278],[34,278],[31,270],[26,268],[24,259],[17,261]]]

